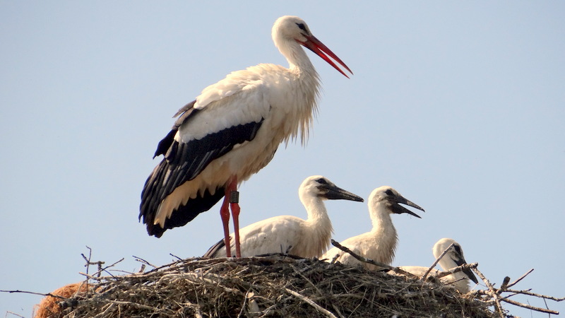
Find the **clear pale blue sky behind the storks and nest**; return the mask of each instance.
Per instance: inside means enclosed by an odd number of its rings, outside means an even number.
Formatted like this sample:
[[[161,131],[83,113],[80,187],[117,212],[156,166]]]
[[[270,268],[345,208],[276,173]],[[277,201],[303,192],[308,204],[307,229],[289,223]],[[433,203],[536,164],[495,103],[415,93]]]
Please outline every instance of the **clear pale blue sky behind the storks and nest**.
[[[270,39],[284,15],[355,75],[309,53],[323,81],[311,138],[244,183],[242,225],[304,217],[309,175],[365,199],[386,184],[426,209],[393,216],[394,265],[432,264],[451,237],[492,282],[534,268],[516,288],[565,296],[561,1],[1,1],[0,290],[80,281],[87,245],[136,271],[132,255],[162,265],[220,240],[218,206],[149,237],[139,195],[179,107],[230,71],[287,66]],[[335,239],[369,230],[366,204],[326,206]],[[29,317],[40,299],[0,293],[0,313]]]

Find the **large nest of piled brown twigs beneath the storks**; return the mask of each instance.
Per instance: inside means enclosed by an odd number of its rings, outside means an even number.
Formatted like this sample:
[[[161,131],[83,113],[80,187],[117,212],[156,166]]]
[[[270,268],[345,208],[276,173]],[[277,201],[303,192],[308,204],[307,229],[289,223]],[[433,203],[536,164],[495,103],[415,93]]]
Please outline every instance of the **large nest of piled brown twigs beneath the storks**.
[[[279,254],[89,278],[50,317],[498,317],[448,285]]]

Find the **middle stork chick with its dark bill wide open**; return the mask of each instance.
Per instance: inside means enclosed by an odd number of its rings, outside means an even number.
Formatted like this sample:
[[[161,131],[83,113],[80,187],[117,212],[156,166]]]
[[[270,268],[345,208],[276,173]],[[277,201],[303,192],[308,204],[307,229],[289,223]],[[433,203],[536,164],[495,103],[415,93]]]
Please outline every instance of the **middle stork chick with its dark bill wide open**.
[[[391,264],[394,258],[396,243],[398,242],[398,235],[391,220],[391,214],[408,213],[420,218],[416,213],[400,206],[400,204],[412,206],[422,211],[424,209],[405,199],[395,189],[387,186],[374,189],[369,196],[367,204],[369,206],[371,223],[373,223],[371,231],[350,237],[340,242],[340,244],[351,249],[355,254],[373,259],[374,261],[380,261],[384,264]],[[342,264],[362,264],[367,269],[376,269],[376,266],[357,261],[355,257],[337,247],[333,247],[322,256],[322,259],[327,261],[332,261],[334,258]]]

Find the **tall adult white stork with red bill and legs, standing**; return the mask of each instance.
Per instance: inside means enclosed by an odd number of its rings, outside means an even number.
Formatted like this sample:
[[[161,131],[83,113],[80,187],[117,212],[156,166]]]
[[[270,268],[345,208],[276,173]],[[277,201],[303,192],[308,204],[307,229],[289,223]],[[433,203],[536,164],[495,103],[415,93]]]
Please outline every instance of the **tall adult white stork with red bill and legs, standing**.
[[[225,197],[220,208],[225,240],[229,205],[239,257],[237,185],[265,167],[281,142],[300,134],[304,143],[316,113],[319,78],[301,45],[343,75],[329,57],[350,71],[296,16],[278,18],[272,35],[288,69],[258,64],[232,72],[174,115],[179,118],[155,151],[154,158],[165,158],[141,193],[139,218],[149,235],[186,225]]]

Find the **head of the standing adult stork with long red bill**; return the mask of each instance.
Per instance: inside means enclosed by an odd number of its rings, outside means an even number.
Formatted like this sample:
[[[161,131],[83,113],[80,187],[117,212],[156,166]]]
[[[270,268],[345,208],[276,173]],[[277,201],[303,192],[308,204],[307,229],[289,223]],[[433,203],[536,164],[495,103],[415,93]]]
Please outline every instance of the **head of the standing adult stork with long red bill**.
[[[306,22],[297,16],[282,16],[278,18],[273,25],[271,36],[273,37],[276,47],[279,49],[280,53],[287,58],[291,66],[311,67],[309,59],[300,48],[300,45],[304,45],[304,47],[316,53],[345,77],[349,76],[335,65],[330,57],[352,73],[349,67],[347,67],[337,55],[331,52],[331,49],[328,49],[326,45],[323,45],[320,40],[312,35]]]

